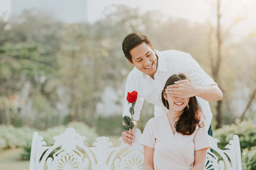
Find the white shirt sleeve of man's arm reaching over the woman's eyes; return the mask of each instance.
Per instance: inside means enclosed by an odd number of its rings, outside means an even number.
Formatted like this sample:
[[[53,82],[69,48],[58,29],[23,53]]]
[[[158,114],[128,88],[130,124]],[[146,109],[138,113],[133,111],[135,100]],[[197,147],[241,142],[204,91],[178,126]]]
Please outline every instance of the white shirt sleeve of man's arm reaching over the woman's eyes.
[[[189,53],[186,53],[186,75],[189,77],[189,80],[193,85],[197,85],[199,87],[209,87],[210,85],[218,85],[214,80],[212,80],[211,76],[205,73],[204,69],[199,66],[198,62],[196,62]]]

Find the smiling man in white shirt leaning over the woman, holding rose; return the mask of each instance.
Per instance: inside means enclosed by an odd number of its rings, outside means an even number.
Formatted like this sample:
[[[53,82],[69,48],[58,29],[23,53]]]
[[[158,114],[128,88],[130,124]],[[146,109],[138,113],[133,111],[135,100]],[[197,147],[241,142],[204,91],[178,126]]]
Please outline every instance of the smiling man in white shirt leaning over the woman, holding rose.
[[[223,94],[217,83],[204,72],[191,55],[177,50],[158,52],[147,36],[138,33],[127,35],[122,43],[122,49],[127,60],[134,66],[127,76],[125,98],[127,92],[133,90],[138,92],[138,99],[134,106],[134,128],[140,118],[144,99],[154,104],[155,117],[166,114],[168,110],[161,102],[164,83],[172,74],[184,73],[191,83],[188,80],[177,81],[175,85],[168,87],[166,94],[180,98],[196,96],[205,115],[205,125],[209,129],[209,134],[212,135],[212,113],[208,101],[219,101]],[[125,115],[131,117],[127,101],[123,116]],[[131,129],[122,132],[124,143],[131,145],[134,138]]]

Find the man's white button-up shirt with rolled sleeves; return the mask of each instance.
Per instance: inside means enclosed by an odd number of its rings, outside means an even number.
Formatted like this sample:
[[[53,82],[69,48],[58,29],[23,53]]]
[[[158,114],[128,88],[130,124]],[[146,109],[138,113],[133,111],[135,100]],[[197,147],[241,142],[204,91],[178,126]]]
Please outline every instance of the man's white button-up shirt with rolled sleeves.
[[[184,73],[188,76],[193,85],[199,87],[209,87],[210,85],[217,85],[211,76],[199,66],[189,53],[179,52],[177,50],[166,50],[163,52],[156,52],[158,57],[157,71],[154,74],[154,80],[148,75],[139,71],[136,67],[127,76],[125,84],[125,115],[131,117],[129,112],[130,105],[126,97],[127,92],[136,90],[138,92],[138,99],[134,106],[134,120],[139,120],[140,111],[144,99],[148,103],[154,104],[154,117],[159,117],[167,113],[161,99],[161,92],[163,91],[166,80],[172,74]],[[205,125],[209,129],[212,120],[212,113],[209,103],[200,97],[196,97],[200,107],[205,114]]]

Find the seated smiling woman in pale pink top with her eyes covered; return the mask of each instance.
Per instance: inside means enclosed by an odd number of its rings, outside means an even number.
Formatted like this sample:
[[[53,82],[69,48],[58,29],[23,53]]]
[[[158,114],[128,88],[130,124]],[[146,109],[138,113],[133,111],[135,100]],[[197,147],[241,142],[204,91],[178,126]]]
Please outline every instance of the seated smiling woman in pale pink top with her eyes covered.
[[[168,78],[161,97],[169,111],[164,116],[150,118],[141,136],[145,170],[204,169],[206,152],[211,145],[196,97],[165,94],[166,87],[179,80],[188,78],[182,73]]]

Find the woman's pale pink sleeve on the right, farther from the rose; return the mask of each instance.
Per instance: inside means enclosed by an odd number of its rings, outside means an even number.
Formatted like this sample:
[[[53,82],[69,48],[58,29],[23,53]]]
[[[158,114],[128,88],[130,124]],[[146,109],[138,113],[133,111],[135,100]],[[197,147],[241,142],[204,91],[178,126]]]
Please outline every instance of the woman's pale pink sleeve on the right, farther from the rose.
[[[211,143],[209,141],[208,133],[206,130],[206,126],[198,127],[196,128],[196,134],[194,138],[194,143],[195,143],[195,150],[202,150],[204,148],[211,148]]]

